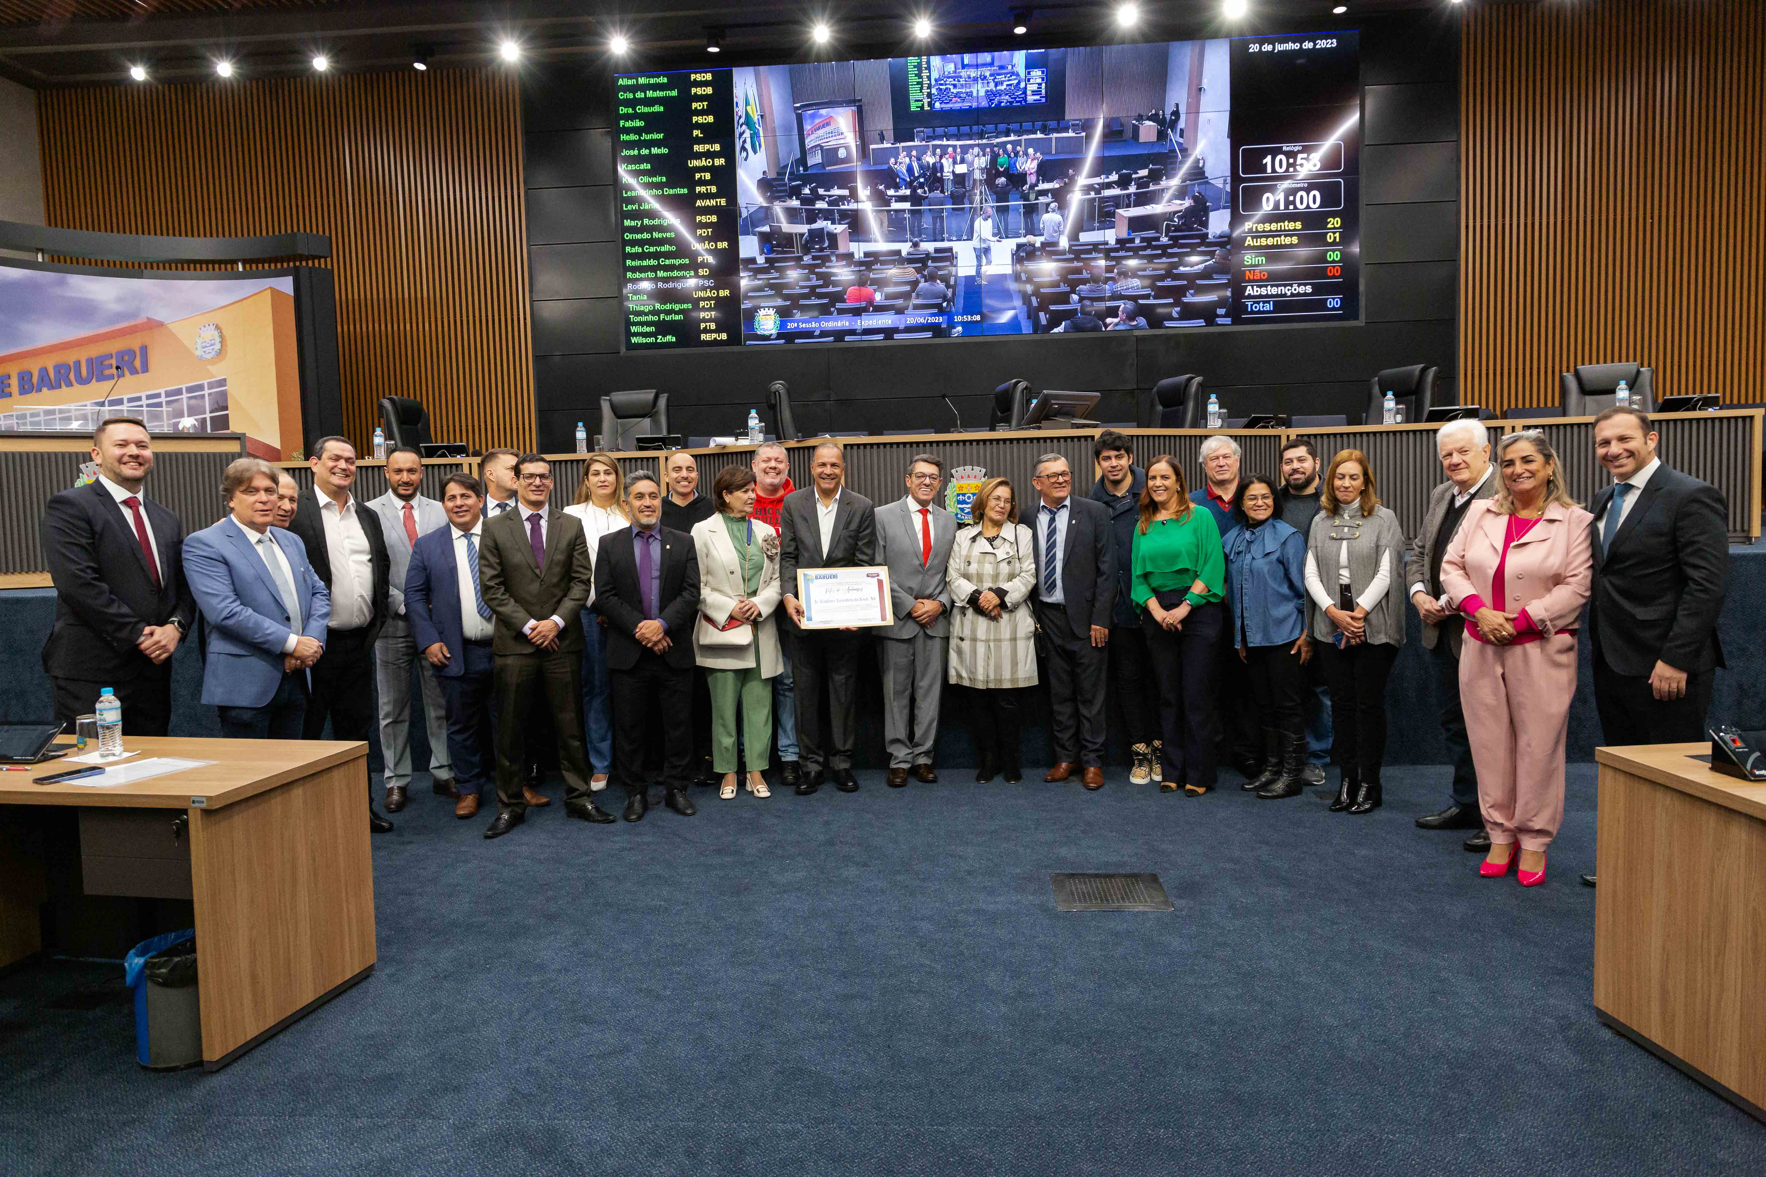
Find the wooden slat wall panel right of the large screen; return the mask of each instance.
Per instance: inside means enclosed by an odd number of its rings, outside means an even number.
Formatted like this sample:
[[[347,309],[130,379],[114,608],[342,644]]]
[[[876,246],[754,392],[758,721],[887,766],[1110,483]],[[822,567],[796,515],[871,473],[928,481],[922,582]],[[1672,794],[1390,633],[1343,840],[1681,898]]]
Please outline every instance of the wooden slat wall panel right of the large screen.
[[[1460,401],[1611,360],[1766,399],[1766,4],[1466,7]]]

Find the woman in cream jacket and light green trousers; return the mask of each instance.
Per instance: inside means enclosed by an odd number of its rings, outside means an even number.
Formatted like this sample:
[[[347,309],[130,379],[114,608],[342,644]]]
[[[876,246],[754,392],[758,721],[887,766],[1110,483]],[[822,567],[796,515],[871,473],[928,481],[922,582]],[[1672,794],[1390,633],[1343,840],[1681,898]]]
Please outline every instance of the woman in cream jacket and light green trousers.
[[[712,693],[712,771],[722,773],[717,796],[736,796],[736,720],[747,789],[768,798],[761,775],[772,761],[772,683],[779,655],[779,533],[751,517],[754,471],[726,466],[712,480],[717,514],[694,524],[699,554],[699,619],[692,651]]]

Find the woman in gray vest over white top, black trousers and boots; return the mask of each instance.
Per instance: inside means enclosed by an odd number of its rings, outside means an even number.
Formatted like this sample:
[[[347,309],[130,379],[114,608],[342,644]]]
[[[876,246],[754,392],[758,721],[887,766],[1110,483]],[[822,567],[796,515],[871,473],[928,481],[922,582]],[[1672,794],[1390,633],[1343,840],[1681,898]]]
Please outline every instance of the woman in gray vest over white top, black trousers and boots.
[[[1404,644],[1404,528],[1379,505],[1367,455],[1339,452],[1307,544],[1312,639],[1324,658],[1342,768],[1333,813],[1379,808],[1386,681]]]

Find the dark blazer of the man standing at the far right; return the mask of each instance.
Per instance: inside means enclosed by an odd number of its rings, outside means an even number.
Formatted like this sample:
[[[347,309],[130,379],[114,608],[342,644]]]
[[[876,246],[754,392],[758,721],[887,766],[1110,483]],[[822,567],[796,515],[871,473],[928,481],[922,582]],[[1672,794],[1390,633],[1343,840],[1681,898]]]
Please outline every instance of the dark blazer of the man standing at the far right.
[[[1648,678],[1658,660],[1688,674],[1724,665],[1717,642],[1729,572],[1724,492],[1658,466],[1605,551],[1600,531],[1609,503],[1611,485],[1589,505],[1595,591],[1588,626],[1595,653],[1632,678]]]

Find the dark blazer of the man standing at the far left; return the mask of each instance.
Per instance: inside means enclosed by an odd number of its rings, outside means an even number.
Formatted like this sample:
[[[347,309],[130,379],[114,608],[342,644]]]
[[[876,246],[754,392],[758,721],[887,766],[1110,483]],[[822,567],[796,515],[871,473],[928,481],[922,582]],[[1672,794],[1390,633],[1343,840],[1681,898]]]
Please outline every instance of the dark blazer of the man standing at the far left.
[[[39,538],[55,579],[55,628],[42,644],[51,678],[132,681],[155,667],[136,649],[141,630],[177,619],[189,637],[196,598],[184,581],[184,524],[143,499],[159,586],[117,499],[99,482],[62,491],[42,508]]]

